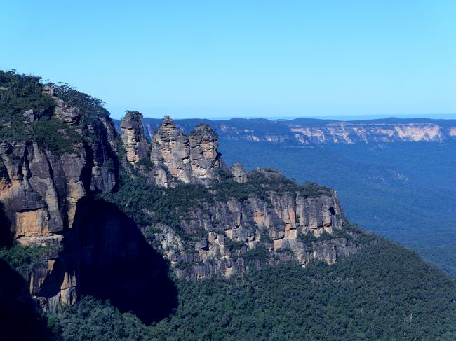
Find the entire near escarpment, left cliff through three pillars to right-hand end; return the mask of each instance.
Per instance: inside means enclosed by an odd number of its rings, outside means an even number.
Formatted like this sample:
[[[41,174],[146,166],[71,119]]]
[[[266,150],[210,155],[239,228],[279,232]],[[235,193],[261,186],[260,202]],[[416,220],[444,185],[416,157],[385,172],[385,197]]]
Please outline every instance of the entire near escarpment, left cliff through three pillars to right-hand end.
[[[0,73],[0,105],[0,258],[22,278],[0,300],[56,310],[90,294],[158,321],[177,297],[169,265],[229,276],[371,242],[335,191],[224,165],[210,125],[187,134],[165,116],[147,139],[129,111],[119,134],[99,100],[14,72]]]

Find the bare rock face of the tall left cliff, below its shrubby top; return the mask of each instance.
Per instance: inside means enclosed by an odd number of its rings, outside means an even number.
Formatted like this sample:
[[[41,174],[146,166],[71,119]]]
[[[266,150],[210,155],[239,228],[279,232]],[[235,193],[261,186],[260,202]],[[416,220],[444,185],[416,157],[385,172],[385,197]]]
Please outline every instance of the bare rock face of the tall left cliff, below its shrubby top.
[[[45,93],[56,98],[52,88]],[[76,108],[61,99],[55,102],[55,118],[67,125],[79,123]],[[67,231],[74,227],[80,200],[116,186],[112,168],[116,132],[109,120],[100,122],[100,127],[102,131],[88,127],[98,141],[74,143],[69,153],[55,153],[36,141],[0,144],[0,202],[11,234],[23,246],[54,250],[25,274],[29,292],[48,309],[55,309],[60,302],[71,305],[76,300],[76,275],[74,269],[62,269],[60,252]],[[52,297],[43,295],[48,291],[49,278],[55,277],[57,263],[61,273],[53,287],[58,290]]]

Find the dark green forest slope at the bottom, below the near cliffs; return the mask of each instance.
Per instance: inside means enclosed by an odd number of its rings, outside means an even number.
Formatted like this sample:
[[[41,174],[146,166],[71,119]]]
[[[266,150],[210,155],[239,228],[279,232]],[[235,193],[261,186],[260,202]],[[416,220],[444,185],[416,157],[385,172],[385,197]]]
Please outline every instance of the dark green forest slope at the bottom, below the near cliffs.
[[[63,340],[454,340],[456,284],[379,239],[335,265],[289,263],[230,279],[176,280],[179,307],[144,326],[85,298],[58,315]]]

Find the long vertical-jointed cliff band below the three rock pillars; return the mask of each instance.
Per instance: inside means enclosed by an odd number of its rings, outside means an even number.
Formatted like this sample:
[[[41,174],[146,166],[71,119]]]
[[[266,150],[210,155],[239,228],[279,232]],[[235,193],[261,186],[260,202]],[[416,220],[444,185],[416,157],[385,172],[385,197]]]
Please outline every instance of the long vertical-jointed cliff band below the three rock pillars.
[[[153,229],[177,275],[201,279],[289,260],[303,266],[311,260],[334,263],[358,250],[353,240],[337,237],[343,223],[335,193],[303,197],[271,192],[264,199],[205,204],[181,216],[180,225],[194,236],[191,241],[162,224]]]

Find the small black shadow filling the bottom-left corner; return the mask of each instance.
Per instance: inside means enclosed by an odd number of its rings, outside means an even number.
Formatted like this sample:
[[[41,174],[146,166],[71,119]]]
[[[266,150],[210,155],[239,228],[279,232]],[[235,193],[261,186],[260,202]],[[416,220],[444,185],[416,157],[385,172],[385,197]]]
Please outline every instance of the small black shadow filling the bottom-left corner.
[[[46,319],[36,312],[25,280],[0,259],[0,340],[48,340]]]

